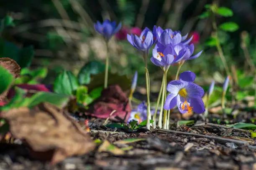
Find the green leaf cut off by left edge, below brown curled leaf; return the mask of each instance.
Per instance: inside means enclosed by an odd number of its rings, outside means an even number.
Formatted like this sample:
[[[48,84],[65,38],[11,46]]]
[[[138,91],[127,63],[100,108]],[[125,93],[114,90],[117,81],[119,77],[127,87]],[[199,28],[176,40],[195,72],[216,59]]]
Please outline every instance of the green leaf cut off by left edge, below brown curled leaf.
[[[0,66],[0,80],[0,94],[2,94],[10,88],[13,83],[14,77],[7,69]]]

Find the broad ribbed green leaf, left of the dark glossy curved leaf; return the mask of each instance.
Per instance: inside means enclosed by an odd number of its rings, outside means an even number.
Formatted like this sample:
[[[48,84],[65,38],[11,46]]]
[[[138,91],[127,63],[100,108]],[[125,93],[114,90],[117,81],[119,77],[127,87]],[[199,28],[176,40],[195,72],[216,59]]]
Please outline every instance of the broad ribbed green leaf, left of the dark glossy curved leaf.
[[[77,78],[71,71],[64,71],[54,81],[54,92],[59,94],[73,95],[79,87]]]

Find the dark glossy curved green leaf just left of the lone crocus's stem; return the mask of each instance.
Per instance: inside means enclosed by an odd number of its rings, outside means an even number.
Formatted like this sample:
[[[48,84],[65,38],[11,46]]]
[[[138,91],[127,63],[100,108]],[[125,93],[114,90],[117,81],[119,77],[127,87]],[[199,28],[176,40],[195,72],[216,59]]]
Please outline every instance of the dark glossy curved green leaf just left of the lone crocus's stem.
[[[87,85],[91,81],[91,75],[96,75],[104,72],[105,64],[98,61],[91,61],[86,63],[77,75],[77,79],[80,85]]]

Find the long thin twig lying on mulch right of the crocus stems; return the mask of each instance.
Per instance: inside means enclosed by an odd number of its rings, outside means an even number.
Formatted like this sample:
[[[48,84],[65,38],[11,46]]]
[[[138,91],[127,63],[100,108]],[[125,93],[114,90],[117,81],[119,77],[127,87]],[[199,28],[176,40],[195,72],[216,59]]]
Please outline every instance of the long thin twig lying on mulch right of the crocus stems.
[[[218,137],[218,136],[201,135],[201,134],[196,134],[196,133],[180,132],[180,131],[177,131],[177,130],[158,130],[157,132],[159,132],[159,133],[177,133],[179,135],[194,136],[195,138],[207,138],[207,139],[210,139],[210,140],[215,140],[218,143],[222,143],[222,144],[225,144],[225,143],[235,143],[236,145],[254,144],[254,142],[249,142],[249,141],[222,138],[222,137]]]

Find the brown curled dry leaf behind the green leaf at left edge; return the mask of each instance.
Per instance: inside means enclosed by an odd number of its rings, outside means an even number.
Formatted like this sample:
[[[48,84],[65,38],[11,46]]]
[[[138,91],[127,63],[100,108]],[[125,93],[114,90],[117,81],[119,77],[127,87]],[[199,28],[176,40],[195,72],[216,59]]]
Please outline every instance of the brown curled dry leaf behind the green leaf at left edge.
[[[0,58],[0,66],[6,68],[10,71],[14,78],[19,77],[20,75],[20,66],[15,62],[15,60],[10,58]],[[0,101],[4,100],[5,97],[8,95],[8,90],[0,94]]]

